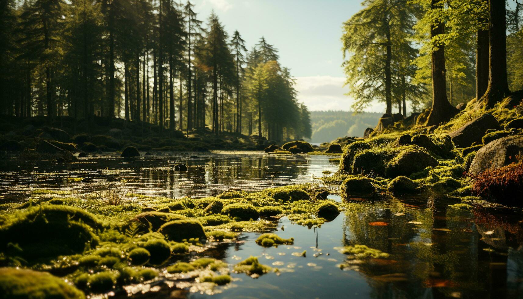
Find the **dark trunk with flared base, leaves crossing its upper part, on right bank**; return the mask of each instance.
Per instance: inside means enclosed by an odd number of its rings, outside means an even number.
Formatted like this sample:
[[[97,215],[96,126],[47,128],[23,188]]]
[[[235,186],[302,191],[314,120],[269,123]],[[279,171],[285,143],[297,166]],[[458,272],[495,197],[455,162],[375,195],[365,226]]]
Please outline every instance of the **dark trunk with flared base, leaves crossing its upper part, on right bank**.
[[[431,0],[431,8],[440,8],[439,0]],[[445,25],[441,22],[431,24],[430,37],[445,33]],[[450,105],[447,99],[447,83],[445,70],[445,45],[438,45],[432,52],[432,108],[427,118],[427,126],[439,125],[449,121],[459,110]]]

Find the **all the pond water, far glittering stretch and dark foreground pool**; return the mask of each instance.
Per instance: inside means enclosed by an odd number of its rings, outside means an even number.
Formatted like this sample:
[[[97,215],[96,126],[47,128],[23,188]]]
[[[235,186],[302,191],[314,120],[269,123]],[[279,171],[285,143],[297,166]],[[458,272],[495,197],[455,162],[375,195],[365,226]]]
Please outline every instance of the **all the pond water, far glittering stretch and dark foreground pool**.
[[[187,172],[176,172],[175,163]],[[110,181],[134,193],[202,197],[232,187],[256,191],[310,182],[334,172],[326,156],[271,157],[262,153],[208,153],[189,159],[167,154],[134,161],[104,157],[68,164],[16,165],[2,171],[3,201],[24,201],[33,189],[90,192]],[[67,178],[84,178],[74,182]],[[338,202],[342,199],[329,195]],[[445,196],[418,195],[342,205],[342,213],[321,227],[273,219],[267,231],[294,238],[293,245],[264,248],[261,232],[243,232],[237,241],[209,242],[201,257],[234,265],[249,256],[278,268],[253,279],[232,273],[233,281],[209,290],[164,278],[129,291],[132,297],[190,298],[517,298],[523,297],[523,230],[520,209],[458,209]],[[387,258],[354,258],[340,247],[365,245]],[[302,252],[306,250],[304,256]],[[195,258],[196,256],[191,256]],[[175,261],[172,261],[175,262]],[[183,290],[177,290],[176,287]],[[143,290],[149,292],[141,293]],[[116,293],[117,297],[126,297]]]

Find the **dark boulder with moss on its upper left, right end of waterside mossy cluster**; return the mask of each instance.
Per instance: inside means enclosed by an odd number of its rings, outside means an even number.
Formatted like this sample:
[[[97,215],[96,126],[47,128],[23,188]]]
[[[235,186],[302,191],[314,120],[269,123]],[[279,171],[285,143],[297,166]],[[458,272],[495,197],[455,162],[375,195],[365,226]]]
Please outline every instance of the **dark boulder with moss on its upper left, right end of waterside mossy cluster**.
[[[389,178],[395,178],[399,175],[409,176],[429,166],[436,167],[437,165],[438,161],[419,147],[415,145],[406,146],[391,161],[388,161],[385,167],[385,175]]]

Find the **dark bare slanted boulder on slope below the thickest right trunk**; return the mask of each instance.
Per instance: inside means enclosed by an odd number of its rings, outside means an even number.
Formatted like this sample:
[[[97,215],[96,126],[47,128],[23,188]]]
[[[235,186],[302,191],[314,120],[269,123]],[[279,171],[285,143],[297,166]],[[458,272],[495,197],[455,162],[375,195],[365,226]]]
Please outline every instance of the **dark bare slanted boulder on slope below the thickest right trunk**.
[[[466,148],[470,147],[474,141],[481,141],[488,129],[499,130],[501,127],[492,114],[485,113],[450,133],[450,137],[457,148]]]

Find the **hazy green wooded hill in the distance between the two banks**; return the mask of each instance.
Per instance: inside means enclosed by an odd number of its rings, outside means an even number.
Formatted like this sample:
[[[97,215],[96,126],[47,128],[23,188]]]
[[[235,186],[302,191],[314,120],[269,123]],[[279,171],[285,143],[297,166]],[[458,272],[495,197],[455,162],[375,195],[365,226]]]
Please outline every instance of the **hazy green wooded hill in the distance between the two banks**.
[[[374,128],[382,113],[351,111],[311,111],[312,137],[309,142],[330,142],[338,137],[362,137],[368,127]]]

